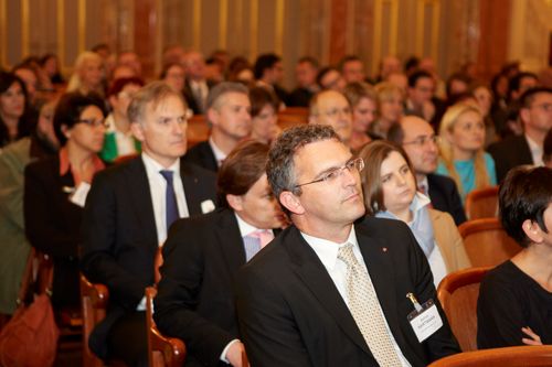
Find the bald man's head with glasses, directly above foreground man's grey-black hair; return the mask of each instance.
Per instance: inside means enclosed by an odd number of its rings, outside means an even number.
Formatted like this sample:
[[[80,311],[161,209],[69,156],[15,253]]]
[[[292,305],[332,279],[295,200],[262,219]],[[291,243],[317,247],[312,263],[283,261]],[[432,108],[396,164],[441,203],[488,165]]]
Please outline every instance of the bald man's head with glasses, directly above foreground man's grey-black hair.
[[[336,90],[322,90],[310,101],[309,123],[328,125],[349,145],[352,132],[351,106],[347,98]]]

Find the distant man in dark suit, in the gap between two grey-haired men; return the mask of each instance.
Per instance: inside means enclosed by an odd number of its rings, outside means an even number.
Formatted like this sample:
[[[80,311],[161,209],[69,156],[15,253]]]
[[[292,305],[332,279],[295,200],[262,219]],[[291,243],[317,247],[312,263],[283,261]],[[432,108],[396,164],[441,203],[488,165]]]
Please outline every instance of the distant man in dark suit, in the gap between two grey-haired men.
[[[205,61],[197,51],[190,51],[184,56],[185,84],[184,98],[194,114],[206,112],[206,100],[211,88],[214,86],[206,79]]]

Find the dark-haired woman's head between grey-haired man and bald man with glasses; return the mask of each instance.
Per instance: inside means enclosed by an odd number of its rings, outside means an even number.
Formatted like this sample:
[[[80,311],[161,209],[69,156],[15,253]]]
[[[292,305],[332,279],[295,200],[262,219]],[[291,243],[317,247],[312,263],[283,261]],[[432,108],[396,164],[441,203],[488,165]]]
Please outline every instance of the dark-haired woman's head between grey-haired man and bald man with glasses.
[[[278,97],[265,87],[250,89],[251,138],[269,144],[280,133],[278,121]]]

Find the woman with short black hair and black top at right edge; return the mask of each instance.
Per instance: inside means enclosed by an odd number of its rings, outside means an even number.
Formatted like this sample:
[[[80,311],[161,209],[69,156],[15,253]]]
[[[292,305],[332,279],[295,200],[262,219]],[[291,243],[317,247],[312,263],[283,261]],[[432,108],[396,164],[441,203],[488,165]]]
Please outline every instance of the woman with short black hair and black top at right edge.
[[[481,282],[479,348],[552,344],[551,182],[551,169],[524,166],[500,186],[502,227],[523,249]]]

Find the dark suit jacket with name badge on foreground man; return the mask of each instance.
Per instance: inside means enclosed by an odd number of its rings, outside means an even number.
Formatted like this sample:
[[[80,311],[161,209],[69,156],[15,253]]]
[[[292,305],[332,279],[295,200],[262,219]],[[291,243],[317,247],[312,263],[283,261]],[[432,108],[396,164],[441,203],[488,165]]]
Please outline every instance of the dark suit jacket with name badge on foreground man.
[[[399,347],[412,366],[459,352],[443,327],[418,343],[406,316],[437,295],[424,253],[399,220],[365,218],[357,239]],[[299,230],[288,227],[238,273],[237,313],[252,366],[378,366],[347,304]]]

